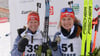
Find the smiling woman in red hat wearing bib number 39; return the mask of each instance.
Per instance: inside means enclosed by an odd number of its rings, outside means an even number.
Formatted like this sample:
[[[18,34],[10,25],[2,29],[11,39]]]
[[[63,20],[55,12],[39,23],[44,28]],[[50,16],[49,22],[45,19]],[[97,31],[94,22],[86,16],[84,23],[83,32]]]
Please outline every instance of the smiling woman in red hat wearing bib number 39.
[[[11,56],[36,56],[36,50],[42,45],[42,34],[38,29],[40,25],[39,14],[32,11],[27,17],[27,27],[18,29]]]

